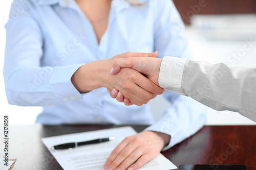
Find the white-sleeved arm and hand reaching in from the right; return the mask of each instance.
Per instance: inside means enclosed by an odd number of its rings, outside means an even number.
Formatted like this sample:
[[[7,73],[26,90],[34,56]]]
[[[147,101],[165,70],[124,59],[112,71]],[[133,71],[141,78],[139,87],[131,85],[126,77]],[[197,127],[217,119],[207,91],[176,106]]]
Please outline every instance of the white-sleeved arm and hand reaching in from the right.
[[[256,68],[229,68],[224,63],[167,56],[115,59],[113,63],[113,75],[120,68],[134,68],[166,90],[190,96],[218,111],[238,112],[256,122]],[[116,98],[112,91],[111,96]],[[128,99],[117,100],[130,105]]]

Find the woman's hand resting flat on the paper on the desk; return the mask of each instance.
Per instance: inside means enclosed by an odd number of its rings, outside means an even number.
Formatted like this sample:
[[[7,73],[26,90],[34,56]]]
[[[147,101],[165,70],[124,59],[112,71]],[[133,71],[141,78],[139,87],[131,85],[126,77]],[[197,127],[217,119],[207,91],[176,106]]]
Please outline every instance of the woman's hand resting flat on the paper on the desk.
[[[112,151],[104,170],[125,170],[128,167],[129,170],[136,170],[154,159],[169,140],[169,135],[153,131],[126,137]]]

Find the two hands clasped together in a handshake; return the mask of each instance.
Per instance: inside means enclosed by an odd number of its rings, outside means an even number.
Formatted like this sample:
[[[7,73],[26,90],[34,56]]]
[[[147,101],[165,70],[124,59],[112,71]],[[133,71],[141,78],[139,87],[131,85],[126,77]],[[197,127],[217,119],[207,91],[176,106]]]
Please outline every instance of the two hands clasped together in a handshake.
[[[110,96],[126,106],[141,106],[162,94],[165,90],[158,84],[162,58],[156,58],[157,54],[129,52],[113,57],[110,74],[120,74],[122,79],[116,87],[107,87]]]

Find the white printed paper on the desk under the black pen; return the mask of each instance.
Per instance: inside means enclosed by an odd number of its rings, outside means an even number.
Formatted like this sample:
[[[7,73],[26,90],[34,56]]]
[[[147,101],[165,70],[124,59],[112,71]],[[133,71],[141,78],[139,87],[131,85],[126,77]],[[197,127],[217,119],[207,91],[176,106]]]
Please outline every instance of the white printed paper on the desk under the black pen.
[[[74,133],[61,136],[53,136],[42,138],[42,142],[48,150],[62,166],[63,169],[76,170],[102,170],[106,159],[110,156],[115,147],[127,136],[136,134],[137,132],[132,127],[120,127],[113,129],[104,129],[91,132]],[[68,150],[51,150],[53,145],[87,141],[97,138],[112,137],[115,139],[97,144],[83,145],[75,149]],[[177,167],[159,154],[155,159],[147,162],[140,169],[143,170],[168,170],[176,169]]]

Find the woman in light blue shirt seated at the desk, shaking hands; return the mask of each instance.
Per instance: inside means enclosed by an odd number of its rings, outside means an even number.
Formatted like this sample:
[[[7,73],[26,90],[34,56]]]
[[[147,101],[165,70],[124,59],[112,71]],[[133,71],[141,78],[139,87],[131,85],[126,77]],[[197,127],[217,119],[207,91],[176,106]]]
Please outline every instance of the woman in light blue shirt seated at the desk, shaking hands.
[[[125,138],[104,165],[126,169],[138,159],[129,167],[138,169],[197,132],[206,121],[206,108],[166,91],[171,105],[155,122],[143,104],[163,89],[132,68],[111,75],[112,62],[155,57],[154,51],[190,58],[181,23],[169,0],[14,0],[5,25],[8,102],[41,106],[40,124],[151,125]],[[138,106],[117,102],[105,88],[116,88]]]

